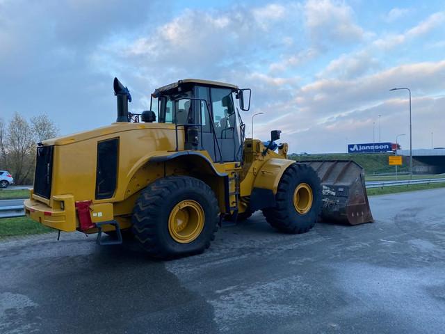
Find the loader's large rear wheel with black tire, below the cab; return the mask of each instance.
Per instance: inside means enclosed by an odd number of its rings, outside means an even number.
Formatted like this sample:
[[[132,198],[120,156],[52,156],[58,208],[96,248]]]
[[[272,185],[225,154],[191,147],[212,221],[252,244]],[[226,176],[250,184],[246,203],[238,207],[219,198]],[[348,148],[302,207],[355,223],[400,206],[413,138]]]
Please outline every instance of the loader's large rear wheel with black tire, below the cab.
[[[193,255],[209,248],[218,214],[218,201],[207,184],[194,177],[164,177],[140,193],[132,232],[153,257]]]

